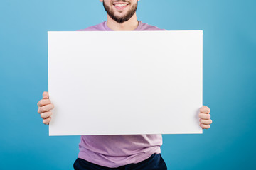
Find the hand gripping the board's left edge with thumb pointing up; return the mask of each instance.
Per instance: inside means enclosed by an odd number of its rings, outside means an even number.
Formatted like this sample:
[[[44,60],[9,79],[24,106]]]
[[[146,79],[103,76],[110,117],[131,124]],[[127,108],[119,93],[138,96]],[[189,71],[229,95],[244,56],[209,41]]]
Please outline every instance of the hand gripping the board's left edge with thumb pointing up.
[[[53,114],[50,110],[54,108],[53,104],[49,99],[49,94],[47,91],[43,92],[43,99],[38,101],[38,113],[43,118],[43,124],[49,125],[51,120],[51,115]]]

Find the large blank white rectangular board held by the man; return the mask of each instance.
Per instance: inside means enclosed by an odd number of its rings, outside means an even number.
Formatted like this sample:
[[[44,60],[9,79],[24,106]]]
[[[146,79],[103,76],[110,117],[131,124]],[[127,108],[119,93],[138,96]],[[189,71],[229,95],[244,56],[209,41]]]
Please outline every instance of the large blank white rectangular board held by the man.
[[[49,135],[202,133],[203,31],[49,31]]]

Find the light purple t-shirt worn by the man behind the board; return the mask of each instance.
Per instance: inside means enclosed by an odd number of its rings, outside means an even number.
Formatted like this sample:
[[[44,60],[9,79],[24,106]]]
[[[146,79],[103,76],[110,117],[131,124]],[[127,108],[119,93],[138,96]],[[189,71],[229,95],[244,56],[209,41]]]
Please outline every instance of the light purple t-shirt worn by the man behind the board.
[[[107,21],[79,31],[110,31]],[[139,21],[135,30],[163,30]],[[159,135],[85,135],[81,136],[78,157],[88,162],[116,168],[136,164],[159,154],[162,136]]]

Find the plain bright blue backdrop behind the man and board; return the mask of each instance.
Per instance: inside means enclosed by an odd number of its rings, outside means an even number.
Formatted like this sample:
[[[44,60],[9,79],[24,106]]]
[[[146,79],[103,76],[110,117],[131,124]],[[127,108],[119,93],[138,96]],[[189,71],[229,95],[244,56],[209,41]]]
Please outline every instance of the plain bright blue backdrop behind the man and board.
[[[139,1],[144,23],[203,30],[203,104],[213,124],[203,135],[163,135],[169,169],[256,166],[255,7],[254,0]],[[37,113],[48,91],[47,31],[105,20],[97,0],[0,1],[0,169],[73,169],[80,137],[49,137]]]

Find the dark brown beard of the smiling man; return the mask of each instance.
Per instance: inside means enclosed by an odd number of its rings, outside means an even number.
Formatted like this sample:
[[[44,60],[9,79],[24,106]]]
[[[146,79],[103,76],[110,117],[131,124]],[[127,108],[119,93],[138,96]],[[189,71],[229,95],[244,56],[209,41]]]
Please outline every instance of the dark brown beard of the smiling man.
[[[124,23],[125,21],[128,21],[129,18],[132,18],[132,16],[136,12],[137,6],[138,6],[138,0],[137,0],[137,3],[132,6],[132,8],[127,12],[127,14],[125,16],[120,16],[120,17],[115,16],[114,11],[111,10],[110,6],[107,6],[104,1],[103,1],[103,6],[104,6],[107,14],[110,16],[110,18],[112,18],[114,21],[117,21],[117,23]]]

